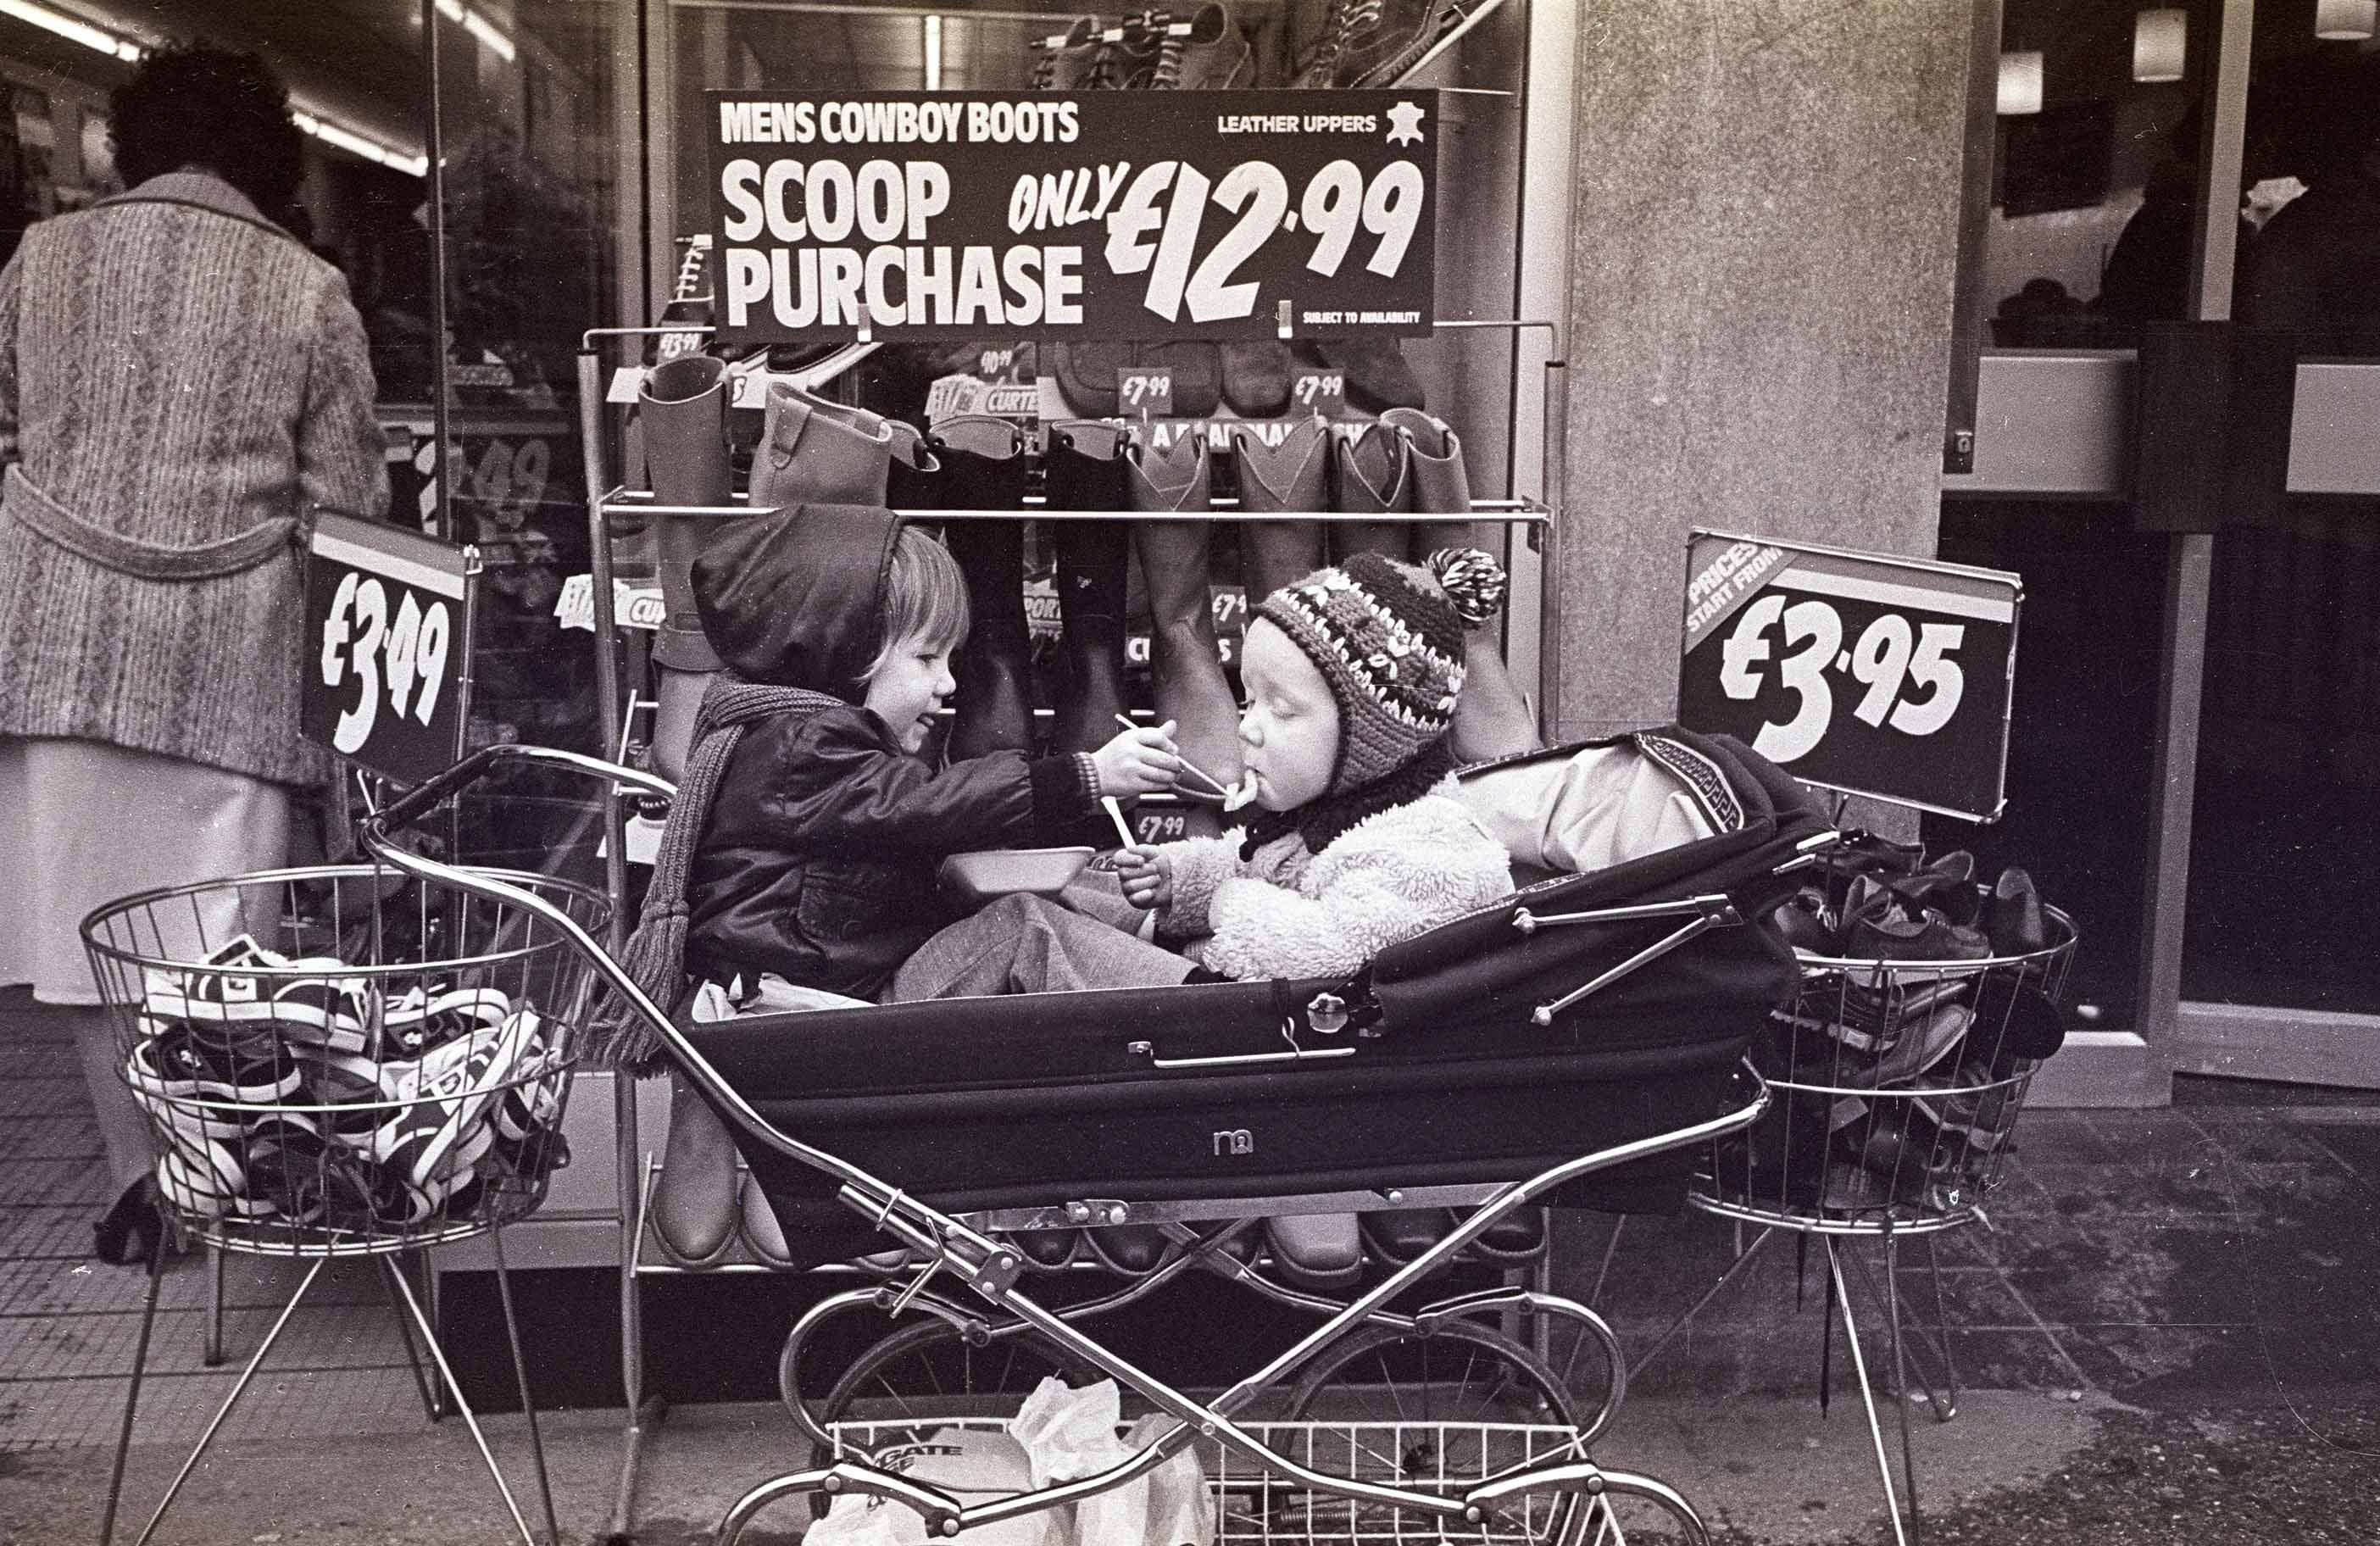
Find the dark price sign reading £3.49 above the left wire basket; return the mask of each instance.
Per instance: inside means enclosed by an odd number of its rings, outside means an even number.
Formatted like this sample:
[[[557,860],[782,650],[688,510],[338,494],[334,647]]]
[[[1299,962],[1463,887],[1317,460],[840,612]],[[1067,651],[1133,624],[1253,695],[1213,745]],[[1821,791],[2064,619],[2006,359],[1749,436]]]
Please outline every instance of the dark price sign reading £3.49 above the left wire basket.
[[[298,709],[307,740],[402,783],[462,756],[476,590],[471,547],[319,516]]]

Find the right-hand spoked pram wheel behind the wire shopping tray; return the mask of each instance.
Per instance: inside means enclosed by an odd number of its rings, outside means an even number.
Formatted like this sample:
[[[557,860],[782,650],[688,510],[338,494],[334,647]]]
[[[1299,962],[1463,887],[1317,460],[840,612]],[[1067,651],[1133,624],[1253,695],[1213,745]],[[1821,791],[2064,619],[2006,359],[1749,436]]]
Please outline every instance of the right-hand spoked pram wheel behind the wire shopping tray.
[[[1526,1344],[1471,1320],[1430,1334],[1383,1325],[1349,1334],[1299,1377],[1290,1415],[1307,1429],[1302,1444],[1311,1444],[1299,1458],[1319,1470],[1430,1489],[1583,1448],[1571,1391],[1554,1370]],[[1438,1539],[1435,1520],[1390,1506],[1273,1491],[1271,1508],[1297,1515],[1273,1520],[1295,1539]],[[1480,1539],[1566,1546],[1580,1539],[1578,1513],[1576,1494],[1526,1494]]]

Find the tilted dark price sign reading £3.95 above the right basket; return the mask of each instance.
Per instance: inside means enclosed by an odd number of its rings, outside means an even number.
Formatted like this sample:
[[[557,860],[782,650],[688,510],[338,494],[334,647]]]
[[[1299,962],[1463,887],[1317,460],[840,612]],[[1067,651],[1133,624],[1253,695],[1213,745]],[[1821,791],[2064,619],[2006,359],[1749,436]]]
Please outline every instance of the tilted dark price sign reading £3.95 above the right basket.
[[[2013,573],[1697,530],[1678,723],[1804,783],[1994,821]]]

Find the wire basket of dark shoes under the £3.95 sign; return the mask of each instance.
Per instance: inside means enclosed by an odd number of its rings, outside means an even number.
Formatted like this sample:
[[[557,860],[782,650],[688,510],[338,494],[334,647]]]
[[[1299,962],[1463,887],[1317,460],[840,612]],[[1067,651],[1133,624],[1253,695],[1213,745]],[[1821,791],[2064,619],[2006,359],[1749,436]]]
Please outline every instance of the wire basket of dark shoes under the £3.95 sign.
[[[1695,1204],[1825,1234],[1921,1234],[1980,1215],[2013,1151],[2040,1058],[2056,1049],[2075,925],[1975,961],[1799,954],[1754,1066],[1775,1094],[1714,1142]]]

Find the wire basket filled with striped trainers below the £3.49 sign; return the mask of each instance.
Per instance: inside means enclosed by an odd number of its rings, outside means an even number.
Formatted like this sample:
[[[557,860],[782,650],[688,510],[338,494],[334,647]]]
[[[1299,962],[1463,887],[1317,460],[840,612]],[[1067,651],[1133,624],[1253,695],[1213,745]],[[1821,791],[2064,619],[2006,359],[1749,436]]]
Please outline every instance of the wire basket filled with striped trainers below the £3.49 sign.
[[[602,928],[600,892],[481,871]],[[547,918],[376,866],[143,892],[83,920],[157,1189],[226,1251],[369,1256],[531,1213],[595,1001]]]

